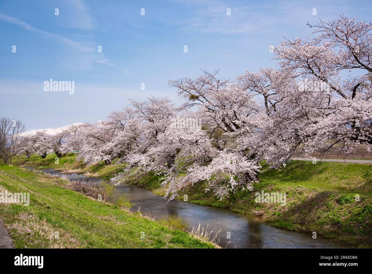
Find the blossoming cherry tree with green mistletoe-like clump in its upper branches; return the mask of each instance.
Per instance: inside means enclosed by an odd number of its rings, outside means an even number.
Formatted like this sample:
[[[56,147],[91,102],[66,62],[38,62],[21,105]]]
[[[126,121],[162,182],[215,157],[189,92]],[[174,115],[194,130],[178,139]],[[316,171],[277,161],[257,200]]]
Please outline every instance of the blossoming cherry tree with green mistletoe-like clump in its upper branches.
[[[187,149],[204,153],[188,166],[186,176],[171,179],[169,191],[173,194],[187,184],[205,180],[206,190],[214,190],[222,199],[230,191],[252,189],[252,183],[256,181],[260,158],[242,141],[254,136],[255,129],[265,117],[264,108],[256,103],[255,94],[247,92],[241,82],[219,79],[218,72],[203,71],[196,79],[169,81],[185,100],[183,108],[197,109],[195,115],[203,122],[199,131],[204,136],[203,142],[198,140],[203,150],[192,141],[188,144]],[[188,153],[185,145],[180,147],[182,152]]]

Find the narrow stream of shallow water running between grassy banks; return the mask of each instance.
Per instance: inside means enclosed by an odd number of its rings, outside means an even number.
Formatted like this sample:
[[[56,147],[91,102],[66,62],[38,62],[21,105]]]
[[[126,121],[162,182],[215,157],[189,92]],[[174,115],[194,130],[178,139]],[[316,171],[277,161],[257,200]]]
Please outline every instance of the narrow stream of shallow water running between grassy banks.
[[[26,169],[35,169],[35,167],[24,167]],[[52,168],[41,169],[40,171],[52,175],[63,176],[64,178],[74,180],[89,180],[89,185],[100,184],[102,179],[86,177],[84,175],[71,173],[61,174]],[[213,238],[218,233],[219,245],[227,248],[347,248],[337,242],[317,237],[312,239],[311,233],[300,233],[289,230],[279,229],[269,226],[260,218],[245,214],[235,213],[222,208],[201,206],[190,204],[180,200],[173,200],[169,203],[158,195],[153,194],[145,188],[135,185],[121,184],[116,188],[118,193],[126,193],[132,202],[133,211],[138,207],[143,214],[150,214],[151,217],[159,219],[164,216],[180,215],[189,223],[188,231],[193,226],[202,227],[208,225],[208,232],[211,232]],[[230,239],[227,236],[230,234]],[[230,243],[229,243],[230,242]]]

